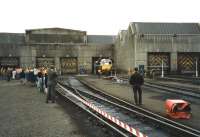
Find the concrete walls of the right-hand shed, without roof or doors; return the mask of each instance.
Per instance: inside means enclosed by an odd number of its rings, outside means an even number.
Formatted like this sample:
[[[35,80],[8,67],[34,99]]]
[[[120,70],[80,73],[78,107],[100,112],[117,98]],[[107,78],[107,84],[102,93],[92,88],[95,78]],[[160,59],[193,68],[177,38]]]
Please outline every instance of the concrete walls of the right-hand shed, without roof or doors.
[[[177,71],[179,52],[200,53],[200,35],[140,34],[130,25],[128,30],[118,34],[115,41],[115,65],[124,72],[139,65],[144,65],[147,69],[150,52],[169,53],[170,71]]]

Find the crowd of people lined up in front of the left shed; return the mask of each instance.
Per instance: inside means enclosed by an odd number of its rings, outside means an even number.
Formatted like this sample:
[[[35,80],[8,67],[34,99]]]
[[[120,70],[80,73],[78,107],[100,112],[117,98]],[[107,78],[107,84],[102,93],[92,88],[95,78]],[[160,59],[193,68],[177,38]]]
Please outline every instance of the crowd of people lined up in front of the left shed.
[[[12,68],[0,67],[0,80],[20,80],[24,85],[36,86],[42,93],[47,94],[46,103],[49,100],[55,102],[55,85],[57,72],[53,66],[50,68]]]

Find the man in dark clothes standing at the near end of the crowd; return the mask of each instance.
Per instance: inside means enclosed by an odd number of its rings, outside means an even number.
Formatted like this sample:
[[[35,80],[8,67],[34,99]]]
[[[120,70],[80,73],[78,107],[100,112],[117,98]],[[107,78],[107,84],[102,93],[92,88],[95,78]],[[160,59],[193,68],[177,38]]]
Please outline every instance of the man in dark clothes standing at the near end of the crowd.
[[[48,103],[49,100],[52,101],[52,103],[55,103],[55,87],[57,84],[57,73],[53,66],[50,67],[50,70],[48,71],[48,77],[47,77],[47,86],[48,86],[48,92],[47,92],[47,98],[46,103]]]

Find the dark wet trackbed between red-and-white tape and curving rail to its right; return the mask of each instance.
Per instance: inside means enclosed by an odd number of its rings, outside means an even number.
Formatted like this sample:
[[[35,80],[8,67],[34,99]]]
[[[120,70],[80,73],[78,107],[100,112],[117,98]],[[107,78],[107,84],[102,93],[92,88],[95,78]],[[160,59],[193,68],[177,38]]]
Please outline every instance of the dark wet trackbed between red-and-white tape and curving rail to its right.
[[[160,123],[162,124],[158,124],[158,120],[156,120],[155,117],[150,117],[148,116],[148,114],[142,114],[144,112],[136,112],[129,108],[119,106],[116,103],[112,103],[108,99],[102,98],[100,95],[92,95],[91,91],[88,91],[86,87],[84,87],[78,80],[74,78],[70,78],[68,82],[65,82],[65,84],[68,86],[68,88],[69,86],[76,87],[76,89],[78,89],[78,94],[81,94],[80,96],[84,96],[84,98],[86,98],[88,102],[94,104],[95,106],[98,106],[98,108],[101,109],[103,112],[106,112],[117,118],[118,120],[123,121],[130,127],[137,127],[142,133],[145,133],[148,136],[177,137],[183,134],[194,137],[199,136],[198,134],[196,135],[187,132],[185,131],[185,129],[179,129],[179,127],[175,128],[173,125],[169,128],[168,123],[163,123],[162,121],[160,121]],[[164,130],[163,124],[165,124]],[[176,133],[176,135],[174,135],[174,133]]]

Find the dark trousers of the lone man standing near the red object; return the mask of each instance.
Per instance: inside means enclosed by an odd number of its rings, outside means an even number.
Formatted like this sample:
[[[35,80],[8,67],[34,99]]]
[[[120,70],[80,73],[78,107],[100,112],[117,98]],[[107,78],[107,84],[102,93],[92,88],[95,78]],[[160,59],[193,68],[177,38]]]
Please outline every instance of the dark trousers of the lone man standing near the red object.
[[[135,104],[142,104],[142,89],[140,85],[134,85],[133,86],[133,93],[134,93],[134,99]],[[139,96],[139,102],[138,102],[138,96]]]

